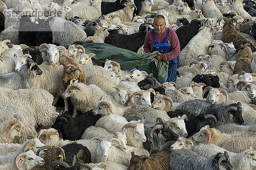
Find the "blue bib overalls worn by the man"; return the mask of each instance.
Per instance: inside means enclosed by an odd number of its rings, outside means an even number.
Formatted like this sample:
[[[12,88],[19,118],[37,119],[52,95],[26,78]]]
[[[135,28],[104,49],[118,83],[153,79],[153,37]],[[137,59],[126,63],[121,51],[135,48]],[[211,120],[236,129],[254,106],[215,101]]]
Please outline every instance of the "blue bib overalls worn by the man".
[[[168,38],[169,38],[169,29],[170,28],[167,28],[166,37],[163,39],[163,42],[161,44],[159,44],[157,42],[157,39],[156,39],[155,34],[154,34],[154,29],[152,29],[152,35],[153,35],[153,40],[154,40],[153,51],[159,51],[161,54],[169,53],[170,51],[172,51],[172,48],[171,48],[170,44],[168,43],[169,42],[169,40],[168,40]],[[177,75],[176,75],[177,61],[178,61],[177,57],[175,57],[172,60],[169,60],[168,73],[167,73],[165,79],[163,79],[162,83],[164,83],[164,82],[176,82],[176,79],[177,79]]]

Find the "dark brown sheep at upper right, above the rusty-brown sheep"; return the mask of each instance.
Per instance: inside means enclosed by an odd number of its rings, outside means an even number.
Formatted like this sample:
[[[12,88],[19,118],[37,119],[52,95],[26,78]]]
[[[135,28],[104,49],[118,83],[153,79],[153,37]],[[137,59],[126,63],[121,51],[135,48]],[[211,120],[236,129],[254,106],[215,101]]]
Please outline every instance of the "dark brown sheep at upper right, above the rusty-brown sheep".
[[[233,42],[236,48],[236,51],[239,51],[241,49],[241,45],[243,45],[244,42],[250,43],[250,41],[246,40],[241,34],[239,34],[238,31],[236,31],[236,28],[233,25],[234,20],[235,20],[234,18],[232,19],[224,18],[225,23],[222,28],[221,40],[227,43]]]

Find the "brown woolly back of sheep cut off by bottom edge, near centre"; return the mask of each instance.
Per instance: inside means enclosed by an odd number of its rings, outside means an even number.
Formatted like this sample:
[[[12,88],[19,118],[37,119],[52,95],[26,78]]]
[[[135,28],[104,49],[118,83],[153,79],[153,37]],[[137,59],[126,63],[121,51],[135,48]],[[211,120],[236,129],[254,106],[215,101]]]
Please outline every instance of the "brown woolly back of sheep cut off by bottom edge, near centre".
[[[127,170],[170,170],[169,155],[171,150],[163,150],[153,153],[150,157],[146,155],[137,156],[131,153],[130,166]]]

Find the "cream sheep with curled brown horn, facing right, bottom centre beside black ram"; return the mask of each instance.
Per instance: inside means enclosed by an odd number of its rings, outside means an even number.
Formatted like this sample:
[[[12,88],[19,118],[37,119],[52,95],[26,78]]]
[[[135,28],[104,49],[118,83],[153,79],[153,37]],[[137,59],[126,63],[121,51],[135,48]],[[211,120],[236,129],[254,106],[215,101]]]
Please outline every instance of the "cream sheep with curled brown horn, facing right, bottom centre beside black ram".
[[[144,134],[144,123],[143,121],[131,121],[128,122],[124,117],[110,114],[103,116],[96,122],[96,127],[103,127],[106,130],[115,132],[121,132],[124,128],[129,128],[126,132],[127,144],[134,147],[142,147],[143,142],[146,141]]]

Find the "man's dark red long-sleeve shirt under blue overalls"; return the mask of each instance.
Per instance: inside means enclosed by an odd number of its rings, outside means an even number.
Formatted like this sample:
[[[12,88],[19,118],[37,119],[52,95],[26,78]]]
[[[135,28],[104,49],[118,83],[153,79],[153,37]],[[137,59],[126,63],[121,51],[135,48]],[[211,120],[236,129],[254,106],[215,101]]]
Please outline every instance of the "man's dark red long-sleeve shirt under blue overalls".
[[[162,34],[157,34],[156,32],[154,32],[158,43],[163,42],[163,39],[166,37],[166,32],[167,32],[166,27],[165,27],[165,31],[163,31]],[[145,37],[145,42],[144,42],[144,47],[143,47],[145,53],[152,52],[153,44],[154,44],[154,41],[153,41],[152,30],[150,30],[150,31],[148,31],[148,33],[146,34],[146,37]],[[169,44],[172,48],[172,51],[170,51],[169,53],[160,55],[160,58],[163,61],[169,61],[171,59],[174,59],[175,57],[177,57],[180,54],[180,42],[178,40],[178,37],[177,37],[175,31],[173,31],[171,28],[169,30]]]

